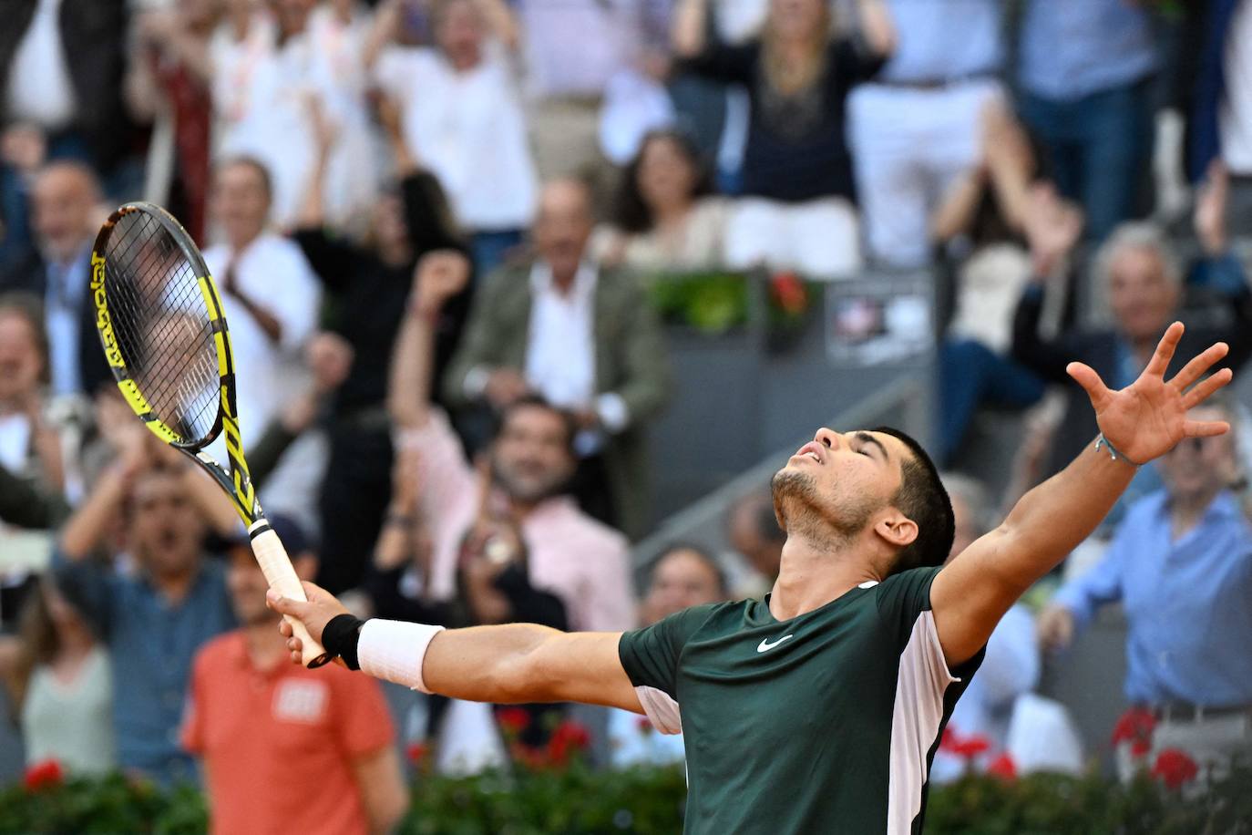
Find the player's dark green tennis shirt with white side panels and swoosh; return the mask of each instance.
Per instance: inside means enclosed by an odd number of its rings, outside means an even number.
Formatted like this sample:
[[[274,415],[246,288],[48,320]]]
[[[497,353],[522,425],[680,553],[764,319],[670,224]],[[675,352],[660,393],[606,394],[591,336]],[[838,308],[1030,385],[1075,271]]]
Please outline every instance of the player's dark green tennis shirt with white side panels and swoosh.
[[[983,657],[948,670],[938,572],[866,582],[789,621],[766,596],[622,635],[654,724],[675,732],[681,715],[686,832],[920,831],[939,736]]]

